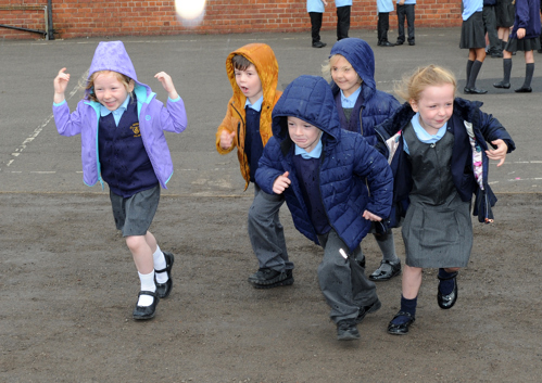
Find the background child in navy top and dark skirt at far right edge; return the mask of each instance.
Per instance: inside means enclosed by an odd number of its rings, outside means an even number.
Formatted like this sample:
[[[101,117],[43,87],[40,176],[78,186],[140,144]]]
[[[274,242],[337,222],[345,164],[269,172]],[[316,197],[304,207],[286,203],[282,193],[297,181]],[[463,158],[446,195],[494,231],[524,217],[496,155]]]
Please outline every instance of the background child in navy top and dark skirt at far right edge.
[[[540,50],[540,2],[539,0],[516,0],[516,18],[514,28],[503,51],[502,81],[493,84],[495,88],[511,87],[512,54],[525,52],[525,80],[516,93],[532,92],[531,80],[534,74],[534,50]]]

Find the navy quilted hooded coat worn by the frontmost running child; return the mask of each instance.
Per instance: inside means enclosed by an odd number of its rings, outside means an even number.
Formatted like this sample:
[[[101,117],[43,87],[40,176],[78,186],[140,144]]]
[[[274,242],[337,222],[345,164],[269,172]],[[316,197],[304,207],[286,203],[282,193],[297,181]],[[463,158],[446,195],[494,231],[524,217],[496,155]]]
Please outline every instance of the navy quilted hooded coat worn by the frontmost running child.
[[[288,135],[287,117],[293,116],[324,131],[319,179],[320,195],[331,227],[352,252],[370,229],[362,217],[365,209],[388,217],[393,179],[386,158],[362,137],[342,130],[329,85],[322,77],[301,76],[285,90],[273,110],[273,137],[264,149],[256,171],[257,184],[273,194],[275,179],[289,171],[285,191],[293,224],[318,244],[316,231],[295,176],[295,145]],[[371,194],[368,195],[367,181]]]

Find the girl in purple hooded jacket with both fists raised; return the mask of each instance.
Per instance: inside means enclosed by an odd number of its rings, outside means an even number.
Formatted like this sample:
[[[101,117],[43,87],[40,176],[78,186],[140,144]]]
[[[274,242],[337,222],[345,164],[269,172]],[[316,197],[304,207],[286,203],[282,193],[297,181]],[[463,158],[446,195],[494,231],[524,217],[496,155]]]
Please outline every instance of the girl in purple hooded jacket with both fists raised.
[[[134,256],[141,291],[134,319],[154,317],[156,304],[172,291],[174,256],[162,252],[149,231],[160,187],[173,175],[164,130],[181,132],[185,104],[169,75],[154,77],[169,98],[167,108],[151,88],[138,81],[122,41],[100,42],[92,59],[85,98],[74,113],[65,101],[66,68],[54,78],[53,114],[62,136],[81,135],[83,178],[87,186],[105,181],[116,228]]]

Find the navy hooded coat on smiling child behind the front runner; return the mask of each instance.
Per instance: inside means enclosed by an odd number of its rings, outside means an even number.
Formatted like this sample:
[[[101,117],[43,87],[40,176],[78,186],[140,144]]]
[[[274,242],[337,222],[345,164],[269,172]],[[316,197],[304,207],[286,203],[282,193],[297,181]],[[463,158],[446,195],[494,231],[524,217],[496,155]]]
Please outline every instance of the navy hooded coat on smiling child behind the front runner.
[[[339,113],[341,126],[346,130],[357,131],[373,146],[377,143],[375,127],[391,117],[401,105],[391,94],[377,89],[375,81],[375,54],[370,46],[356,38],[346,38],[337,41],[331,48],[331,55],[340,54],[352,65],[357,75],[363,79],[362,92],[358,102],[352,111],[350,122],[343,112]],[[341,94],[339,87],[331,82],[336,102],[340,104]],[[360,100],[361,99],[361,100]],[[346,126],[351,128],[346,128]]]

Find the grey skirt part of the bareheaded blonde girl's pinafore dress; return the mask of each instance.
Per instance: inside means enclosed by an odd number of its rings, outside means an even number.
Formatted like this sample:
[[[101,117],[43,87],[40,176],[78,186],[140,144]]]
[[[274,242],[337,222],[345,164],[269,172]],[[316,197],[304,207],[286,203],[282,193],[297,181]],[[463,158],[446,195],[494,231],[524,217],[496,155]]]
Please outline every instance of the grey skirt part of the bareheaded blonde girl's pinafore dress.
[[[465,267],[472,250],[470,202],[463,202],[456,191],[442,205],[428,205],[411,195],[402,233],[406,265]]]

